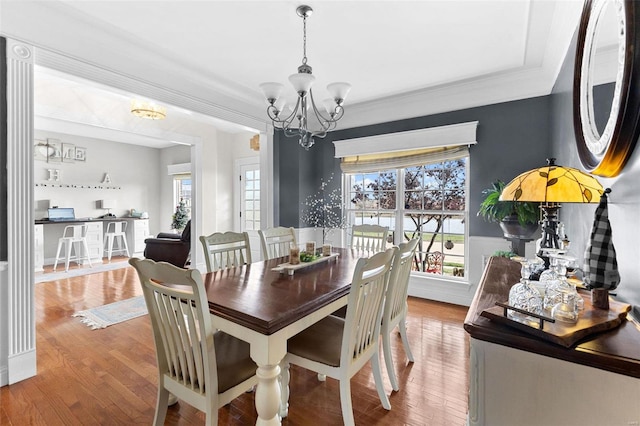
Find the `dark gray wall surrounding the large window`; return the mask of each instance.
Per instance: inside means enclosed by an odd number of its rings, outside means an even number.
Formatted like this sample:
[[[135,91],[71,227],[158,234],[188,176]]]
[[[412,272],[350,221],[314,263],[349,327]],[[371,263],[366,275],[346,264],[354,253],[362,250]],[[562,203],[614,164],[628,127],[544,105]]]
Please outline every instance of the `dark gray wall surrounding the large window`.
[[[469,234],[500,237],[502,232],[498,225],[476,216],[482,190],[496,179],[509,182],[524,171],[546,164],[545,160],[551,153],[549,113],[550,98],[537,97],[334,131],[325,139],[316,140],[309,151],[301,148],[297,140],[277,133],[274,137],[274,170],[275,191],[279,198],[274,200],[275,224],[304,226],[299,219],[300,201],[317,191],[319,179],[327,180],[334,174],[333,183],[340,185],[340,162],[334,158],[333,140],[477,120],[478,144],[470,148]]]

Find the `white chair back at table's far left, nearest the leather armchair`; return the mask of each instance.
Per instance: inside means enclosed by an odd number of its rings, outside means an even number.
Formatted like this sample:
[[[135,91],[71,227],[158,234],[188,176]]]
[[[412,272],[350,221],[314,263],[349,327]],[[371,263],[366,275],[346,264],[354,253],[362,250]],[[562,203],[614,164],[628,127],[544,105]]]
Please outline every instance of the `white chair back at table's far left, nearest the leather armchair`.
[[[207,272],[251,263],[251,246],[246,232],[215,232],[201,235]]]

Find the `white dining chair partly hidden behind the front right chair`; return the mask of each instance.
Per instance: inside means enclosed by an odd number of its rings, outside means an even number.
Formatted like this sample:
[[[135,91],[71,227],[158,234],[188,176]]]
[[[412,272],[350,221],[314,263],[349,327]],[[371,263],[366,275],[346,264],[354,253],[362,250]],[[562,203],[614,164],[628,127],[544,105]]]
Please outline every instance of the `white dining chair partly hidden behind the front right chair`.
[[[397,326],[402,337],[404,351],[409,362],[413,362],[413,354],[409,347],[407,338],[407,289],[409,288],[409,278],[411,277],[411,265],[415,257],[418,239],[414,238],[407,243],[398,246],[398,251],[393,258],[391,266],[391,276],[385,297],[384,310],[382,311],[382,350],[387,366],[387,374],[394,391],[400,390],[398,378],[393,366],[393,355],[391,351],[391,332]]]

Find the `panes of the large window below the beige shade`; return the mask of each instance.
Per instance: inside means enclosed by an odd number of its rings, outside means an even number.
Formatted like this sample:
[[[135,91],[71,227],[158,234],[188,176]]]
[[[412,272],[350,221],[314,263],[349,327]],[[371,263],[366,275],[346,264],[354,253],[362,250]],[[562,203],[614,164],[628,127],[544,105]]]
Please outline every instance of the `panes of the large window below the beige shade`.
[[[413,269],[462,277],[468,157],[377,172],[345,173],[349,225],[388,226],[388,245],[419,238]]]

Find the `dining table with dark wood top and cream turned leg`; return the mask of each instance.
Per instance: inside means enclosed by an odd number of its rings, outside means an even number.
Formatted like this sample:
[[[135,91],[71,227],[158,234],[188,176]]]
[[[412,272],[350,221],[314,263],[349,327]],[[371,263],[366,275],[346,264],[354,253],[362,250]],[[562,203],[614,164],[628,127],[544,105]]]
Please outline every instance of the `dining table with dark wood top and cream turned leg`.
[[[332,251],[339,255],[292,275],[274,270],[288,262],[282,257],[203,277],[214,326],[251,345],[251,358],[258,365],[258,425],[278,425],[287,414],[278,382],[287,339],[347,304],[356,263],[368,255]]]

